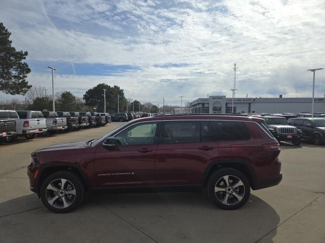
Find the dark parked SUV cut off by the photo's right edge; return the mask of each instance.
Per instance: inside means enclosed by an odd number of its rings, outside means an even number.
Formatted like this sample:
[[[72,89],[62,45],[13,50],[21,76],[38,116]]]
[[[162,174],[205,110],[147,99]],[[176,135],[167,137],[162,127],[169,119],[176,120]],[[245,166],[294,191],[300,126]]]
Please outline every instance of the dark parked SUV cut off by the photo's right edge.
[[[288,119],[290,125],[302,130],[302,139],[315,145],[325,143],[325,118],[299,117]]]

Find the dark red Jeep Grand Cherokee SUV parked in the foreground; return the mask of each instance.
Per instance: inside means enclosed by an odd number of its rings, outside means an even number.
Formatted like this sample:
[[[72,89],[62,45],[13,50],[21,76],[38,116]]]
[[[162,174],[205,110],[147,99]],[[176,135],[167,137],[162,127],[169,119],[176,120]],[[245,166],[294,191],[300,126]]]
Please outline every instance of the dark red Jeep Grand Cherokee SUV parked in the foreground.
[[[279,144],[244,116],[169,115],[129,121],[99,139],[31,154],[30,189],[55,212],[77,208],[85,192],[200,191],[222,209],[281,179]]]

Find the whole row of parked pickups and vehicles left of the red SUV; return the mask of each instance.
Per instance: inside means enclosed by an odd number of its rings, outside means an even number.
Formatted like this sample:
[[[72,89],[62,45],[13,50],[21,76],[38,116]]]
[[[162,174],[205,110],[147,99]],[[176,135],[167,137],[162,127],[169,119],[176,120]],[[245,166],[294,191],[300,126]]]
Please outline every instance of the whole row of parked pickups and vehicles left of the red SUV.
[[[0,110],[0,142],[15,141],[18,136],[34,139],[38,134],[50,135],[81,128],[105,126],[109,113],[35,110]]]

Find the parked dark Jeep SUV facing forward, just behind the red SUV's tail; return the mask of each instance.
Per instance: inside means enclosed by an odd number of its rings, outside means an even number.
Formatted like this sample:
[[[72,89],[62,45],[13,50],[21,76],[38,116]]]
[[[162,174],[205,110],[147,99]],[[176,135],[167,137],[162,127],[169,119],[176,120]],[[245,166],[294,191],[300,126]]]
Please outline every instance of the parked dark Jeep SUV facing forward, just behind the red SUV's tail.
[[[291,141],[299,146],[302,138],[302,131],[296,127],[288,125],[285,117],[281,116],[263,116],[267,128],[272,135],[280,141]]]

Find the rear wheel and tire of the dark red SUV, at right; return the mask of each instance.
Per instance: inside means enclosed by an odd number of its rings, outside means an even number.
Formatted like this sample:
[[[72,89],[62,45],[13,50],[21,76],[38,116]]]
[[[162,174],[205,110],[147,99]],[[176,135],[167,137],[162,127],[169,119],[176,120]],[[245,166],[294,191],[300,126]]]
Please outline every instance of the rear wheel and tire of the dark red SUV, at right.
[[[225,180],[228,178],[228,185]],[[232,187],[238,185],[237,187]],[[238,170],[223,168],[212,173],[208,181],[208,195],[220,209],[234,210],[242,207],[250,195],[247,177]],[[222,202],[223,201],[223,202]]]

